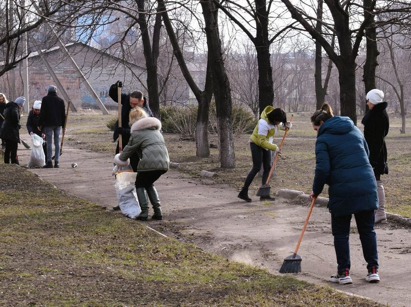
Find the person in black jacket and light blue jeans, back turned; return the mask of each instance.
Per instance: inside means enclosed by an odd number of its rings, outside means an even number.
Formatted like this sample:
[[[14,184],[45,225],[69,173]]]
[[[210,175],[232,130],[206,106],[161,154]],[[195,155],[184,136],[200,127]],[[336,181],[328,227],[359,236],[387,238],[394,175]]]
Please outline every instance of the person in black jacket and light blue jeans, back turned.
[[[52,168],[51,158],[53,156],[52,139],[54,135],[54,167],[57,168],[60,157],[60,130],[66,120],[66,106],[63,99],[57,96],[57,87],[50,85],[47,88],[47,96],[42,99],[40,109],[40,126],[46,135],[47,161],[43,168]],[[66,132],[66,127],[63,127]]]

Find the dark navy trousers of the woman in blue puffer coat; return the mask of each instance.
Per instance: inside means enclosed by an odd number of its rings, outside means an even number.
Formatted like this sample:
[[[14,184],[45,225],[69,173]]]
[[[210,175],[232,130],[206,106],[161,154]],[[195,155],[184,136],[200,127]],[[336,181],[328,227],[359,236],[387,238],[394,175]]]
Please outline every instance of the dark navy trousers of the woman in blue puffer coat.
[[[350,269],[350,225],[351,216],[334,216],[331,213],[331,229],[334,236],[334,248],[337,256],[338,274],[342,274],[345,269]],[[367,269],[376,267],[378,269],[377,235],[374,230],[374,210],[354,213],[360,234],[362,254],[367,262]]]

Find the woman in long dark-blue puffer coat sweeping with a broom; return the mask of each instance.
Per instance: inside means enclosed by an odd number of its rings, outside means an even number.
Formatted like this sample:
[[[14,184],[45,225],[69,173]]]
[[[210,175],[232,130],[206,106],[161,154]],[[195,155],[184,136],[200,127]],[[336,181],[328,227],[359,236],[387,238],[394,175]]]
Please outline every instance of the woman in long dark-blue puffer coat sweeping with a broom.
[[[362,252],[367,262],[365,280],[379,282],[377,235],[374,210],[378,208],[377,183],[368,161],[368,146],[361,131],[345,116],[334,116],[324,103],[311,117],[317,131],[316,166],[310,198],[318,196],[328,184],[328,209],[337,256],[337,273],[330,281],[352,283],[350,277],[350,224],[354,214]]]

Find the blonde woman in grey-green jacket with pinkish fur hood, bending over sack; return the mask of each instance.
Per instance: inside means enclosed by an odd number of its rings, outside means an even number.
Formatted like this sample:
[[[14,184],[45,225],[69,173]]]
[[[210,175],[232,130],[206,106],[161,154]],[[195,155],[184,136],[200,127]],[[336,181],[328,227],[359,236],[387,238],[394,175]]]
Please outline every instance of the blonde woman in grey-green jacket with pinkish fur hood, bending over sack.
[[[131,136],[124,150],[114,157],[114,162],[118,166],[127,166],[130,163],[129,158],[137,152],[140,161],[137,165],[135,185],[141,213],[136,218],[140,221],[148,220],[148,195],[154,210],[151,218],[162,220],[160,199],[154,182],[168,171],[170,159],[166,144],[160,133],[161,122],[155,117],[148,117],[141,107],[133,108],[129,117]]]

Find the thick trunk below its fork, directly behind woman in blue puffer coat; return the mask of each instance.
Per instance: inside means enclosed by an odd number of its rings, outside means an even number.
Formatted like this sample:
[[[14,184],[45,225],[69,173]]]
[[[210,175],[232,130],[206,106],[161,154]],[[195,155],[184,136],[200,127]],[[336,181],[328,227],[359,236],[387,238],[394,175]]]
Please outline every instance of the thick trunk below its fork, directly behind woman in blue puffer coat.
[[[357,124],[355,61],[344,61],[337,65],[340,84],[341,116],[350,117]]]

